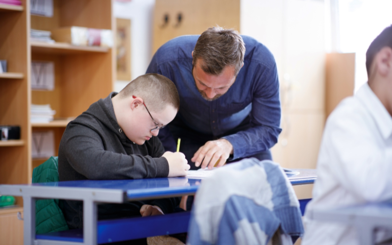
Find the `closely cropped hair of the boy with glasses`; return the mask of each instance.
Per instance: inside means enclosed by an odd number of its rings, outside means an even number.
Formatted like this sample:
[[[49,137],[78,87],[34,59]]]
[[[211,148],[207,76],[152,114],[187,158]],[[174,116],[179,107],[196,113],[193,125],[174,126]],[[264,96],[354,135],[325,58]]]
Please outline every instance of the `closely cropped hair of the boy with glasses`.
[[[168,104],[177,111],[180,108],[180,97],[172,80],[156,73],[138,76],[128,83],[118,96],[120,98],[140,97],[148,109],[154,112],[164,110]]]

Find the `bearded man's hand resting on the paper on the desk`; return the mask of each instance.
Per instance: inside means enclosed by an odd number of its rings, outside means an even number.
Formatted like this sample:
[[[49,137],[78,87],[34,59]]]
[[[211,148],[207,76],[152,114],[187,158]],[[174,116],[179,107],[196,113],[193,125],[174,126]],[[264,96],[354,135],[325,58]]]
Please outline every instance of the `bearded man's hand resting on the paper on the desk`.
[[[204,146],[196,151],[191,161],[195,162],[196,167],[201,164],[202,169],[205,169],[207,166],[208,169],[212,169],[218,160],[220,161],[217,167],[221,167],[226,162],[227,158],[229,158],[230,154],[233,154],[233,146],[228,140],[219,139],[207,141]]]

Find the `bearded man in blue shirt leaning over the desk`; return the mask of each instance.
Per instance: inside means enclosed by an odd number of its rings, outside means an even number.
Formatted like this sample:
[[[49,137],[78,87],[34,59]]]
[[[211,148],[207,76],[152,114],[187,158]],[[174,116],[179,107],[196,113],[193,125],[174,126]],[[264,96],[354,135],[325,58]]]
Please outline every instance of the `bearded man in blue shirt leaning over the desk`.
[[[177,87],[179,112],[159,138],[170,151],[181,138],[191,169],[244,157],[271,159],[270,147],[281,132],[279,80],[275,60],[261,43],[209,28],[164,44],[147,73],[162,74]]]

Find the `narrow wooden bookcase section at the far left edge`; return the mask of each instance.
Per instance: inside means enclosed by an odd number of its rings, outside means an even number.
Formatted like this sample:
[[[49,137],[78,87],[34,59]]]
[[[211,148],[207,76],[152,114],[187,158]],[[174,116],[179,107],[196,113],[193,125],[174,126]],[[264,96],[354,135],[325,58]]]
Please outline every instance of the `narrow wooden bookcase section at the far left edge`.
[[[21,2],[22,6],[0,4],[0,59],[7,60],[9,71],[0,74],[0,124],[21,128],[20,140],[0,141],[0,184],[27,184],[31,179],[29,13],[25,11],[30,2]],[[17,204],[23,205],[22,198],[17,197]]]

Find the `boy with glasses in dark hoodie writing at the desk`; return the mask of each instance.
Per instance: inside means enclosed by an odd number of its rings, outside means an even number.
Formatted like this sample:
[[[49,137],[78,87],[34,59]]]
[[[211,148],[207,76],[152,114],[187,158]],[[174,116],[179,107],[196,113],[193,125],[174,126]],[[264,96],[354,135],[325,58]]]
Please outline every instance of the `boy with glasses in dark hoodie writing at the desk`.
[[[185,176],[190,166],[181,152],[165,152],[156,137],[179,108],[173,82],[145,74],[120,93],[99,99],[67,125],[59,147],[60,181]],[[148,107],[148,109],[147,109]],[[98,220],[172,213],[179,198],[98,206]],[[81,201],[64,201],[70,229],[82,228]]]

